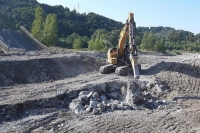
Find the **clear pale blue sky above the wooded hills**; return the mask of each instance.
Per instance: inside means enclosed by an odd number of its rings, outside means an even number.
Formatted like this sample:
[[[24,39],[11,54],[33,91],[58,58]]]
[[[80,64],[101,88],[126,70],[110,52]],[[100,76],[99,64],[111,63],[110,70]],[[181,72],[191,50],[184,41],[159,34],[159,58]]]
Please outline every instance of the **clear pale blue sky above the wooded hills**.
[[[134,13],[138,26],[163,26],[200,33],[200,0],[37,0],[80,13],[94,12],[122,23]]]

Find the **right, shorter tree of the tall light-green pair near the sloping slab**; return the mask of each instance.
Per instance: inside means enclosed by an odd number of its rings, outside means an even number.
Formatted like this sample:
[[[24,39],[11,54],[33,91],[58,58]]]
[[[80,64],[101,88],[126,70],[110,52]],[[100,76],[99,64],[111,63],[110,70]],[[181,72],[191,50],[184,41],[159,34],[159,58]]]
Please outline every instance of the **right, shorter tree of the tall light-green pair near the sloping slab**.
[[[58,39],[58,24],[55,14],[48,14],[44,23],[43,31],[44,44],[47,46],[55,45]]]

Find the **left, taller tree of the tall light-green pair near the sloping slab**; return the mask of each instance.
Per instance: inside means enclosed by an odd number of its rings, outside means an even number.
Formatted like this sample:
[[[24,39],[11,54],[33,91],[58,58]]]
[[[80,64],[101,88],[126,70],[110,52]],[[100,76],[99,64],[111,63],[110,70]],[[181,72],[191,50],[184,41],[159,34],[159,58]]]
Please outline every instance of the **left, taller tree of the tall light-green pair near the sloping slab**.
[[[35,10],[35,20],[33,21],[31,34],[39,41],[43,42],[44,11],[38,6]]]

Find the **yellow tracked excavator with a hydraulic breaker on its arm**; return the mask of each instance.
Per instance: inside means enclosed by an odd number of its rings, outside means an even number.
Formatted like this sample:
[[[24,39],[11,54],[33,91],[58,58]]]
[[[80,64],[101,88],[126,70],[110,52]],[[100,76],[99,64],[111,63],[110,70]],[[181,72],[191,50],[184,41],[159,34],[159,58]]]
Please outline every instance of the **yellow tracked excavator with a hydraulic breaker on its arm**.
[[[107,53],[110,64],[101,66],[102,74],[115,72],[117,75],[126,75],[133,72],[135,78],[140,78],[141,65],[138,64],[138,50],[135,44],[136,23],[134,14],[129,13],[126,24],[120,32],[118,48],[110,48]],[[126,39],[129,37],[128,44]]]

